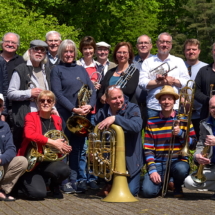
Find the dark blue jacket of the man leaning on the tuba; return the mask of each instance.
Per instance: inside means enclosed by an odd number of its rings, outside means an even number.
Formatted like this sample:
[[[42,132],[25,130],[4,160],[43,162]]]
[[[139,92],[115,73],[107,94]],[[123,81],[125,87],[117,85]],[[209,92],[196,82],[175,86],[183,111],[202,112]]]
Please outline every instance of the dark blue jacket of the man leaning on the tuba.
[[[99,109],[95,115],[95,124],[108,117],[108,109],[108,104]],[[124,130],[126,167],[132,177],[143,166],[142,118],[138,105],[128,102],[128,97],[125,96],[125,104],[118,111],[114,124],[121,126]]]

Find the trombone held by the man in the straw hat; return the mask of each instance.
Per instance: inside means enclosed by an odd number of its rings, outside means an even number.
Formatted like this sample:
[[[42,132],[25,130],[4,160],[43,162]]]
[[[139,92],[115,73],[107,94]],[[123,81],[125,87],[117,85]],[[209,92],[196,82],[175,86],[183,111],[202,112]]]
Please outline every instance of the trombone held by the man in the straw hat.
[[[191,117],[192,117],[192,109],[194,103],[194,94],[195,94],[195,82],[189,80],[184,88],[181,89],[179,93],[179,107],[178,107],[178,114],[177,119],[173,121],[172,130],[175,126],[177,126],[178,120],[182,122],[186,122],[187,130],[185,132],[184,137],[184,146],[183,148],[177,152],[181,156],[189,156],[189,133],[190,133],[190,125],[191,125]],[[162,187],[162,197],[166,196],[168,183],[169,183],[169,176],[170,176],[170,168],[171,168],[171,161],[172,156],[174,153],[174,144],[175,144],[175,135],[171,136],[170,147],[168,150],[168,156],[166,161],[166,171],[164,174],[163,179],[163,187]]]

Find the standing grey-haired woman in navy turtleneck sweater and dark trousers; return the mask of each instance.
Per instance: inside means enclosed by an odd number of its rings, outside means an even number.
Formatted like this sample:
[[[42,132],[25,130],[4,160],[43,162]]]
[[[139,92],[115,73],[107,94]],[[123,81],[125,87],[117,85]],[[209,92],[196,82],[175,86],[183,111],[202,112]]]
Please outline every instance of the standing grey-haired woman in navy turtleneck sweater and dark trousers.
[[[84,148],[85,137],[79,137],[71,133],[66,127],[66,121],[72,114],[87,115],[95,105],[96,93],[93,83],[90,81],[86,70],[76,64],[77,48],[72,40],[64,40],[59,49],[58,56],[60,64],[55,66],[51,72],[51,86],[57,97],[57,110],[63,120],[63,129],[72,146],[72,152],[69,155],[69,166],[72,170],[68,182],[62,186],[64,192],[83,192],[82,187],[78,187],[77,181],[84,177],[82,171],[86,166],[82,162],[81,152]],[[92,89],[92,96],[89,104],[78,106],[78,92],[83,83]],[[84,166],[84,167],[82,167]]]

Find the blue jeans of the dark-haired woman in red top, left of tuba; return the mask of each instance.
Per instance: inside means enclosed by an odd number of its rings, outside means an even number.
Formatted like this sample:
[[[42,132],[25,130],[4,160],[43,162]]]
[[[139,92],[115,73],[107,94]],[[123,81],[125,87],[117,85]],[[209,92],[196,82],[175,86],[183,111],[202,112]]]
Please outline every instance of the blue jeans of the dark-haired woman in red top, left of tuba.
[[[89,114],[87,116],[87,119],[91,122],[91,124],[94,125],[94,117],[95,114]],[[88,144],[87,144],[87,137],[85,138],[84,147],[81,151],[81,157],[79,162],[79,171],[78,171],[78,181],[84,181],[87,180],[87,182],[95,181],[97,180],[97,177],[94,175],[89,174],[88,166],[87,166],[87,152]]]

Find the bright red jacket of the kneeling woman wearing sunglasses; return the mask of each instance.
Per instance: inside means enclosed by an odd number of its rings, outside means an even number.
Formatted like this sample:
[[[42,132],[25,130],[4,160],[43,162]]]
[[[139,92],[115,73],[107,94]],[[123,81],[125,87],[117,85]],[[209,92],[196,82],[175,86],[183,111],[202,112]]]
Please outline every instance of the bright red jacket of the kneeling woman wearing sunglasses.
[[[54,126],[56,130],[62,130],[62,120],[57,115],[51,115]],[[22,141],[21,147],[18,150],[17,155],[25,156],[26,149],[28,144],[33,141],[37,143],[38,152],[42,153],[42,145],[45,145],[48,141],[48,138],[42,134],[41,120],[39,112],[31,112],[25,116],[25,126],[24,126],[24,139]]]

